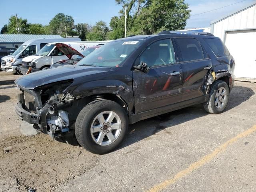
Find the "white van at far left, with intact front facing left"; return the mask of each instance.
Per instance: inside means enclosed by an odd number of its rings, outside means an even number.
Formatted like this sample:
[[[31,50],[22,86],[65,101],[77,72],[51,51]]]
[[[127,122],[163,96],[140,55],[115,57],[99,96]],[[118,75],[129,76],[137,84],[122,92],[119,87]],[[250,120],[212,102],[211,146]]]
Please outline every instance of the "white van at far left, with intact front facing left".
[[[1,67],[6,72],[21,74],[22,59],[36,54],[46,44],[51,42],[78,42],[80,38],[32,39],[24,42],[12,55],[2,57]]]

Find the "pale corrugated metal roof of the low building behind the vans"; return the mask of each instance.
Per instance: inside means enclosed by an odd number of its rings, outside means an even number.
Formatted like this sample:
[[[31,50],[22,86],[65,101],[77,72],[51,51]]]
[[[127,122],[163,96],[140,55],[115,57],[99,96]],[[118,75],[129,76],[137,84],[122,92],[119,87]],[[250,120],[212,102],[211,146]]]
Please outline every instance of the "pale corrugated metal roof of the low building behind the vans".
[[[23,35],[23,34],[0,34],[0,43],[24,43],[32,39],[55,39],[62,38],[60,35]]]

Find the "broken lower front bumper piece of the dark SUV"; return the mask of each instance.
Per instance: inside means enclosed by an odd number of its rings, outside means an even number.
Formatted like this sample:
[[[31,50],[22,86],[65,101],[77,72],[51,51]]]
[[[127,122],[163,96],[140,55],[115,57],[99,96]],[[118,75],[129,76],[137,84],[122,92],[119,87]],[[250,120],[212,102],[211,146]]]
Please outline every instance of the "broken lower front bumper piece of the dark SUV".
[[[15,112],[21,120],[24,120],[30,124],[40,124],[41,117],[38,114],[26,111],[24,108],[22,108],[22,104],[20,102],[17,103]]]

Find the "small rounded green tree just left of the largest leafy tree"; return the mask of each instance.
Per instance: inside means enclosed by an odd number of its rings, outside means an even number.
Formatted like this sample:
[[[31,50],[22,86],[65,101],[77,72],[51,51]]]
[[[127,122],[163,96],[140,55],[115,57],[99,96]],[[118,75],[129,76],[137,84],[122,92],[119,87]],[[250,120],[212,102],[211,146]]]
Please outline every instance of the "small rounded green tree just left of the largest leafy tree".
[[[86,39],[88,41],[102,41],[106,40],[109,28],[106,25],[106,22],[99,21],[96,22],[95,26],[90,29],[90,32],[87,34]]]

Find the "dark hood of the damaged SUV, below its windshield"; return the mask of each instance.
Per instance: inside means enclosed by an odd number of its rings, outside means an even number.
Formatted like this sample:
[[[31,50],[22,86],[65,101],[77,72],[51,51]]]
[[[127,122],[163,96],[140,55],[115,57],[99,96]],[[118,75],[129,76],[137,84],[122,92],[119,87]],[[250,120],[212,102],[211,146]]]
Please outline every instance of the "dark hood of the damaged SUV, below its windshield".
[[[34,72],[18,78],[15,83],[26,89],[34,89],[42,85],[73,79],[75,84],[91,81],[99,73],[107,72],[110,68],[91,66],[60,66],[48,70]]]

